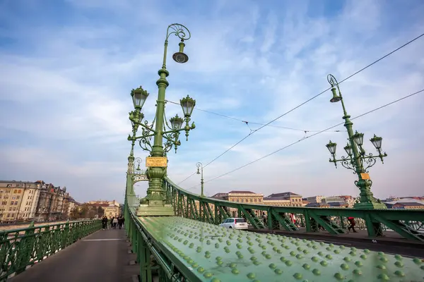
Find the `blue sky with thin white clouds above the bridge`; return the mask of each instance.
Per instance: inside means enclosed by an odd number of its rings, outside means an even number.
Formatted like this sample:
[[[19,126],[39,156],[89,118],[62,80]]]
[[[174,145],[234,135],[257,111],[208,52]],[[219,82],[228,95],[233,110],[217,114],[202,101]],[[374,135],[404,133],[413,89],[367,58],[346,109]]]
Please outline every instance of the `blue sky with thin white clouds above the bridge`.
[[[180,23],[192,35],[189,61],[172,61],[179,40],[170,37],[166,99],[196,99],[196,129],[188,142],[182,136],[177,154],[168,153],[172,181],[199,193],[200,176],[191,175],[201,161],[209,196],[357,196],[358,176],[329,163],[325,147],[337,142],[341,157],[346,129],[312,136],[343,121],[341,104],[326,91],[290,110],[326,90],[329,73],[341,81],[421,35],[423,12],[420,0],[2,0],[0,178],[66,186],[79,202],[122,201],[130,92],[143,85],[150,93],[143,113],[151,122],[167,26]],[[341,83],[348,114],[423,90],[423,50],[421,37]],[[388,157],[370,168],[376,197],[424,195],[423,102],[421,92],[353,120],[367,153],[376,153],[370,137],[383,137]],[[182,109],[167,103],[167,117],[175,114]],[[138,146],[135,155],[148,152]],[[138,183],[136,193],[145,195],[146,185]]]

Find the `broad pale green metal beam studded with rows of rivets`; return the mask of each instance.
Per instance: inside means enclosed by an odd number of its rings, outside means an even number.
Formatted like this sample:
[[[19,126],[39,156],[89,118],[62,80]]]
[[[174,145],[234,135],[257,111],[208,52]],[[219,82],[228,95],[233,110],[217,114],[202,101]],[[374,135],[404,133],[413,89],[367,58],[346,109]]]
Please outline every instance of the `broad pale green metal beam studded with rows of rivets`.
[[[423,281],[424,262],[180,217],[144,217],[160,249],[192,269],[190,281]],[[188,277],[187,277],[188,278]]]

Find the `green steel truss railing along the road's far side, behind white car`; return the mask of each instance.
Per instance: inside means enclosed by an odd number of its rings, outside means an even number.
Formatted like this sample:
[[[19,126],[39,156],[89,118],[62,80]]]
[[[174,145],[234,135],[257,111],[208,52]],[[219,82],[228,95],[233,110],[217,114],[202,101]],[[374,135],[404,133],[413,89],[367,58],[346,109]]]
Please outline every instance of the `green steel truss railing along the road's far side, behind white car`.
[[[408,240],[424,242],[424,210],[423,209],[348,209],[348,208],[316,208],[316,207],[276,207],[261,204],[242,204],[228,202],[209,197],[200,197],[192,192],[179,188],[165,178],[167,202],[172,204],[177,216],[195,219],[212,224],[222,223],[224,219],[237,216],[244,217],[254,229],[299,231],[290,214],[300,219],[301,226],[307,232],[320,232],[320,229],[339,235],[346,233],[347,218],[355,218],[358,229],[365,229],[370,238],[384,235],[385,232],[396,232]],[[266,212],[266,224],[259,214]],[[321,227],[321,228],[320,228]],[[355,226],[356,228],[356,226]]]

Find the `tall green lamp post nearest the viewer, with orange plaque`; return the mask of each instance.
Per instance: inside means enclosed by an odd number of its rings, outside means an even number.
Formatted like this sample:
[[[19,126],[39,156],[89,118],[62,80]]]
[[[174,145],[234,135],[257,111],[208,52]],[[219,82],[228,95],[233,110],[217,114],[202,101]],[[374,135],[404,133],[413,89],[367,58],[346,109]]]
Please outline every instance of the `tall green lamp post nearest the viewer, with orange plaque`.
[[[184,25],[179,25],[177,23],[169,25],[165,37],[163,64],[162,68],[158,71],[160,78],[156,81],[156,85],[158,85],[158,99],[156,101],[156,114],[153,123],[149,124],[148,121],[142,121],[143,114],[141,113],[141,109],[149,95],[148,92],[143,90],[143,87],[131,91],[135,111],[129,114],[129,119],[131,123],[140,125],[142,129],[141,136],[135,136],[134,139],[139,140],[140,147],[143,150],[150,152],[152,161],[151,164],[146,164],[146,166],[148,166],[146,171],[148,177],[148,190],[146,198],[140,201],[140,207],[137,211],[138,216],[174,215],[171,204],[165,203],[165,190],[162,187],[167,167],[166,154],[172,147],[175,147],[175,152],[177,152],[177,147],[181,145],[179,141],[179,134],[181,131],[185,131],[186,140],[188,140],[189,130],[195,128],[194,123],[189,125],[189,121],[191,121],[196,100],[190,98],[188,95],[179,101],[182,106],[184,118],[176,115],[170,118],[170,123],[168,123],[165,116],[165,90],[169,85],[166,79],[169,75],[166,69],[166,56],[170,35],[175,35],[181,39],[181,42],[179,42],[179,51],[172,56],[172,59],[177,63],[186,63],[189,60],[189,57],[184,54],[184,40],[188,40],[191,37],[189,30],[187,27],[184,27]],[[184,121],[185,126],[182,127]],[[153,145],[151,144],[152,137]],[[163,142],[163,138],[165,138],[165,142]],[[133,140],[131,136],[129,136],[128,139]]]

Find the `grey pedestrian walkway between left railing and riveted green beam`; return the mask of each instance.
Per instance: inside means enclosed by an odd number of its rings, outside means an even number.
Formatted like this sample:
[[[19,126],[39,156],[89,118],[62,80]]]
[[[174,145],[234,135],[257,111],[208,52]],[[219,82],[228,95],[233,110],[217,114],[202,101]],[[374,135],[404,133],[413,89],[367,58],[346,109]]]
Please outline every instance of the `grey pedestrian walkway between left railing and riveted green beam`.
[[[131,281],[124,229],[100,230],[8,281]]]

